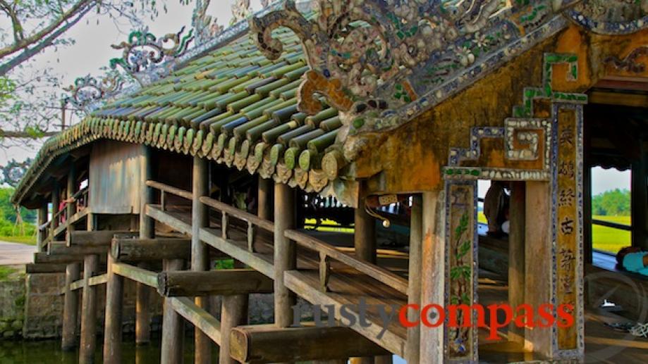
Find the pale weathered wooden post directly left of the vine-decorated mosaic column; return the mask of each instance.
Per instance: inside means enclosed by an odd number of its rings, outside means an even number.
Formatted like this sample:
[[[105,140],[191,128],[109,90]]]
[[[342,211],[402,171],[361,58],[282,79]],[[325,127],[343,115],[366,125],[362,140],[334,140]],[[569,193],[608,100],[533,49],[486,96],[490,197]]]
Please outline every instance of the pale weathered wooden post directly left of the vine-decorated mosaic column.
[[[422,271],[421,302],[445,301],[446,242],[445,197],[439,191],[424,192],[422,196]],[[421,364],[444,363],[444,326],[421,330]]]

